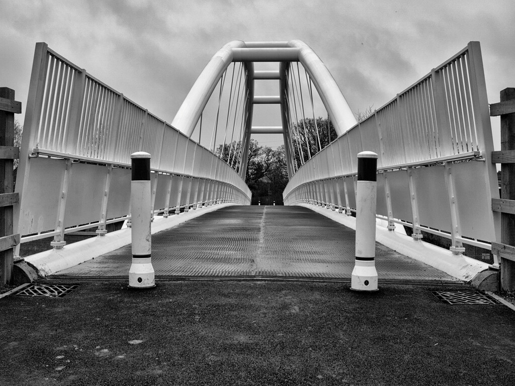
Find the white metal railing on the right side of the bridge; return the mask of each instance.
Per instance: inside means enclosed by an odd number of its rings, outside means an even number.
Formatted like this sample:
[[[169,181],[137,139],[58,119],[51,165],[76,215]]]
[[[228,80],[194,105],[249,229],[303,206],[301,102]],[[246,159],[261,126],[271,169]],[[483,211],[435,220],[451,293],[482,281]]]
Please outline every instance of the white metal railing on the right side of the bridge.
[[[304,164],[284,202],[355,209],[357,153],[377,153],[377,217],[490,249],[499,197],[483,62],[478,42],[434,68]]]

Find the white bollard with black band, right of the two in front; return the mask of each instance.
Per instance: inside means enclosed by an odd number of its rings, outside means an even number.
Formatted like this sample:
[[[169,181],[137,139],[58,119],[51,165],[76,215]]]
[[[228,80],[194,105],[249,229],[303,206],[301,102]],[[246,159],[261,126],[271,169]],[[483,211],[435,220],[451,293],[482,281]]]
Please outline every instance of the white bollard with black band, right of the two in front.
[[[356,252],[351,290],[377,291],[375,270],[375,208],[377,197],[377,154],[357,155]]]

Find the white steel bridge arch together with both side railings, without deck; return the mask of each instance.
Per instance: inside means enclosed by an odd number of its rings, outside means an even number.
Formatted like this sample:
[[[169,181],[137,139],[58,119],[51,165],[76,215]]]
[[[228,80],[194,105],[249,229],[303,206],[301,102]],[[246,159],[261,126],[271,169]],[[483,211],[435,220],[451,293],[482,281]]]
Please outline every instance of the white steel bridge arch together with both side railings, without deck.
[[[254,71],[256,62],[277,62],[279,69]],[[211,144],[206,148],[192,139],[217,84],[214,98],[221,98],[231,63],[241,63],[236,79],[243,85],[234,108],[242,127],[237,168]],[[295,164],[301,150],[293,113],[300,73],[294,84],[291,63],[304,68],[306,84],[315,86],[338,135],[301,165]],[[254,81],[262,79],[278,80],[279,95],[254,95]],[[281,126],[253,127],[253,106],[269,103],[280,105]],[[411,227],[413,235],[403,243],[420,242],[422,232],[449,238],[451,261],[465,252],[464,244],[491,250],[499,241],[499,213],[491,207],[499,190],[478,42],[360,122],[305,43],[230,42],[209,61],[171,124],[38,43],[25,111],[16,184],[20,202],[14,209],[22,243],[52,237],[52,246],[62,249],[65,234],[96,229],[102,236],[109,224],[130,220],[130,154],[136,151],[152,155],[149,210],[155,222],[220,203],[248,205],[251,193],[242,176],[250,136],[259,132],[283,135],[286,205],[355,212],[356,155],[370,150],[379,155],[376,217],[389,231],[396,224]],[[397,232],[389,233],[396,239]]]

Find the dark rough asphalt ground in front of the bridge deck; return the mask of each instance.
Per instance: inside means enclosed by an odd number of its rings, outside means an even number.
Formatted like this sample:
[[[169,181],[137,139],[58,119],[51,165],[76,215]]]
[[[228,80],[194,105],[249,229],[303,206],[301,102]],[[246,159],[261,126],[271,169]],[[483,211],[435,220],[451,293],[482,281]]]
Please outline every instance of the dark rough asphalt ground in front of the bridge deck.
[[[513,311],[449,305],[431,293],[444,288],[89,282],[7,296],[0,385],[510,384]]]

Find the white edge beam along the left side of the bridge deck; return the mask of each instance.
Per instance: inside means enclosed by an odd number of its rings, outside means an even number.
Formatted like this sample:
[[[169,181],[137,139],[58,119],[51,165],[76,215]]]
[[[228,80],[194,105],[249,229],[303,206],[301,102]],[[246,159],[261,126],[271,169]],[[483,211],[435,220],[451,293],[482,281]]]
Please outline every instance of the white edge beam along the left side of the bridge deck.
[[[151,233],[155,234],[165,231],[185,221],[232,205],[236,204],[224,203],[211,205],[196,210],[189,210],[180,215],[169,216],[168,218],[156,216],[151,223]],[[45,277],[62,271],[63,269],[75,267],[84,261],[115,251],[130,243],[131,229],[126,227],[119,231],[110,232],[105,236],[92,237],[87,240],[65,245],[65,247],[60,250],[52,249],[25,257],[25,261],[27,264],[34,267],[40,276]]]

